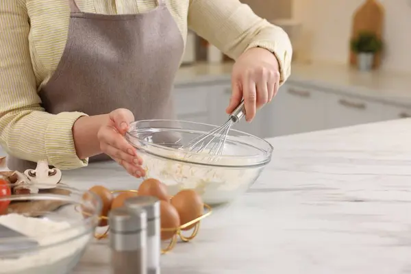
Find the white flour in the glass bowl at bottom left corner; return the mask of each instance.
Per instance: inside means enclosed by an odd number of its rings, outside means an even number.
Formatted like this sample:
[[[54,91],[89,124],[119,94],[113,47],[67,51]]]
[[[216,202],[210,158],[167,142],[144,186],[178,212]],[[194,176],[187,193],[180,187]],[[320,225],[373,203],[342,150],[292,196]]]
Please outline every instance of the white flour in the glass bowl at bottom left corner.
[[[40,245],[39,250],[23,253],[18,258],[0,258],[0,273],[66,273],[69,266],[77,262],[92,237],[91,234],[83,233],[85,228],[75,229],[68,222],[26,217],[21,214],[0,216],[0,224],[34,238]],[[64,229],[66,230],[62,232]],[[47,247],[48,245],[53,246]]]

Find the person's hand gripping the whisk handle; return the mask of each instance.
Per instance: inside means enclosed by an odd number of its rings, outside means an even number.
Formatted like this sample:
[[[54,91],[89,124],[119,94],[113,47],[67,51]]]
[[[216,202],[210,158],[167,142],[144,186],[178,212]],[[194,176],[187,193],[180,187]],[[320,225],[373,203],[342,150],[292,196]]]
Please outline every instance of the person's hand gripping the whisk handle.
[[[244,98],[245,119],[251,122],[256,111],[277,94],[278,88],[279,64],[275,55],[259,47],[248,49],[234,64],[232,97],[226,112],[233,112]]]

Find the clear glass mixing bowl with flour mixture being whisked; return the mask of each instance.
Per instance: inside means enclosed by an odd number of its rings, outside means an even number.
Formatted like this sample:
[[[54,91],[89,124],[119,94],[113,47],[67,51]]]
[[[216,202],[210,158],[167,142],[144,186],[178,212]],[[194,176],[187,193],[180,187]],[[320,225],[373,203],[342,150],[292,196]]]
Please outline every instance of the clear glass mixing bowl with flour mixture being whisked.
[[[235,125],[234,125],[235,126]],[[230,129],[223,153],[210,156],[207,149],[221,138],[215,138],[201,153],[185,149],[189,142],[207,134],[215,125],[174,120],[144,120],[130,125],[127,141],[143,160],[146,178],[166,184],[170,195],[193,188],[205,203],[227,203],[244,193],[271,161],[273,147],[266,140]]]

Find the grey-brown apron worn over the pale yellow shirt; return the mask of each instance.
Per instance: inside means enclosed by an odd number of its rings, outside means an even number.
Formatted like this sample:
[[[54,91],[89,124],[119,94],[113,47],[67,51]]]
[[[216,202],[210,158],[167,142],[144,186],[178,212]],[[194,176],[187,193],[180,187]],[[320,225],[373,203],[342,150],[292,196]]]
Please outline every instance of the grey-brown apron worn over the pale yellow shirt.
[[[163,0],[142,14],[81,12],[75,0],[69,35],[51,79],[40,90],[46,112],[90,116],[117,108],[136,120],[174,119],[171,90],[184,51],[182,34]],[[147,0],[155,1],[155,0]],[[110,160],[100,154],[90,162]],[[33,162],[8,157],[8,168],[34,169]]]

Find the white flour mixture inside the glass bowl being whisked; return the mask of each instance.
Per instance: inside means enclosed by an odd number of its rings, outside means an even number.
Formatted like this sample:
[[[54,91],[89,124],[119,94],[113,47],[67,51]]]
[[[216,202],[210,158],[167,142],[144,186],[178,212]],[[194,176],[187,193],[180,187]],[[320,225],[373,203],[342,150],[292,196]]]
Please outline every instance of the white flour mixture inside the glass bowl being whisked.
[[[165,151],[164,149],[151,148],[150,151],[169,158],[184,160],[182,151]],[[229,153],[227,153],[229,154]],[[232,153],[231,155],[235,155]],[[224,203],[236,197],[238,193],[245,192],[249,184],[255,181],[260,174],[262,167],[236,168],[235,165],[245,166],[251,164],[252,160],[245,157],[219,158],[219,165],[206,166],[179,162],[159,158],[155,155],[141,153],[143,167],[146,170],[146,177],[159,179],[169,188],[170,195],[183,188],[194,188],[200,193],[206,203]],[[210,155],[190,155],[192,162],[206,162]],[[213,162],[210,162],[212,164]]]

